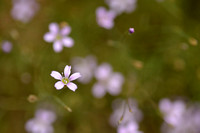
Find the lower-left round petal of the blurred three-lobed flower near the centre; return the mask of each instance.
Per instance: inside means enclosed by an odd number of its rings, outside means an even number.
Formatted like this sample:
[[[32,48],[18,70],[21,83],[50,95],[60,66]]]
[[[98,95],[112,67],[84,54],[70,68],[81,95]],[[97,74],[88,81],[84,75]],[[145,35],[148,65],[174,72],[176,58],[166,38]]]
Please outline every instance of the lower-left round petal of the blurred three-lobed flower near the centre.
[[[92,94],[96,98],[102,98],[106,94],[106,89],[102,84],[96,83],[92,88]]]

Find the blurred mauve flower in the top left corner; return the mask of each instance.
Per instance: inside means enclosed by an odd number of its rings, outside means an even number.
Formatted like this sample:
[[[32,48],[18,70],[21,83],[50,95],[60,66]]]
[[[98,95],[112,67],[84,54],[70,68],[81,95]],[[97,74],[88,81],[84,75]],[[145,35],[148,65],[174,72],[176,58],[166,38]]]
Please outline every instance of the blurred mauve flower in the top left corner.
[[[12,17],[23,23],[29,22],[38,11],[39,5],[35,0],[13,0]]]

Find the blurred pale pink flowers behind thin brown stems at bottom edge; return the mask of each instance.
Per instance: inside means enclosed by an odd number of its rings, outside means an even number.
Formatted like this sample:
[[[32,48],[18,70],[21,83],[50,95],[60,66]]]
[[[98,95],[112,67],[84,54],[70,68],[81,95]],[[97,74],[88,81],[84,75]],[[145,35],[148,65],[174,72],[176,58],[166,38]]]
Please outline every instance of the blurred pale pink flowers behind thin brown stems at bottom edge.
[[[118,133],[142,133],[139,131],[138,124],[143,115],[135,100],[131,98],[127,100],[117,99],[113,102],[113,110],[110,125],[117,127]]]

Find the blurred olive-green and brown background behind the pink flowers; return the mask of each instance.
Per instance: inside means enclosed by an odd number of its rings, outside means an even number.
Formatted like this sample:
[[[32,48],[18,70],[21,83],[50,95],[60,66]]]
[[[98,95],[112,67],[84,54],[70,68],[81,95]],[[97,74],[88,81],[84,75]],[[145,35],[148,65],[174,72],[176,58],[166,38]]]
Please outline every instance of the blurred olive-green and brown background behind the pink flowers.
[[[33,2],[30,7],[26,6],[27,1]],[[122,5],[125,1],[121,0]],[[107,18],[97,18],[97,9],[110,10],[108,3],[104,0],[0,0],[1,133],[37,133],[28,131],[26,125],[38,109],[55,113],[56,120],[51,123],[55,133],[125,133],[119,131],[120,124],[111,126],[109,119],[113,101],[128,98],[137,102],[143,114],[138,130],[159,133],[163,123],[168,122],[159,107],[162,99],[181,100],[187,109],[199,106],[200,1],[137,0],[132,11],[117,14],[112,28],[105,28],[97,21]],[[66,22],[71,27],[69,36],[74,40],[73,47],[55,52],[53,42],[44,40],[52,22]],[[132,34],[131,27],[135,30]],[[92,93],[97,82],[95,77],[84,84],[74,81],[78,86],[75,92],[67,87],[55,89],[57,80],[50,76],[51,71],[63,72],[66,65],[72,65],[73,71],[76,66],[73,67],[73,59],[88,56],[95,58],[96,66],[106,62],[113,72],[123,75],[118,95],[106,93],[101,98],[95,97]],[[176,132],[179,130],[173,133]]]

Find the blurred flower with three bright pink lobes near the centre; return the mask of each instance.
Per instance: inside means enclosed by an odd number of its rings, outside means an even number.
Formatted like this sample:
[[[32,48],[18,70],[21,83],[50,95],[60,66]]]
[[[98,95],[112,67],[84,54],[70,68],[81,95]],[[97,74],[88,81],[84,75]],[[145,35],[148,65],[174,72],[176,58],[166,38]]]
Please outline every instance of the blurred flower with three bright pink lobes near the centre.
[[[106,91],[111,95],[118,95],[124,83],[121,73],[112,72],[112,67],[108,63],[103,63],[95,70],[95,77],[98,80],[94,84],[92,93],[96,98],[101,98]]]

